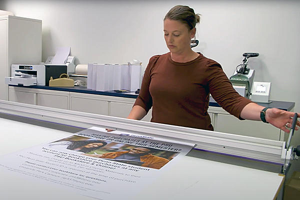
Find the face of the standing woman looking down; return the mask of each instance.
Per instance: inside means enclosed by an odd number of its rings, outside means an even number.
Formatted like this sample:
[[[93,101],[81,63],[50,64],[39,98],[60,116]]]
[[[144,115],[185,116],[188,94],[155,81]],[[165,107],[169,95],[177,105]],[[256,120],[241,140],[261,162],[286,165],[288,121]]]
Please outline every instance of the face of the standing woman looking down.
[[[195,28],[189,30],[187,26],[178,21],[165,19],[163,21],[165,43],[172,53],[180,53],[190,49],[190,39],[195,34]]]

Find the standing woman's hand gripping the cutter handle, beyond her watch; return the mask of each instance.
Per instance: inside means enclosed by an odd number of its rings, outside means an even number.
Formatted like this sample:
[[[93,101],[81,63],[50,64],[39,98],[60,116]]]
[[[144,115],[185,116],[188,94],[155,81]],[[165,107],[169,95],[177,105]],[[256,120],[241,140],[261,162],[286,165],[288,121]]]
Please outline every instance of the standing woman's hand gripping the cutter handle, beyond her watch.
[[[273,126],[280,128],[284,132],[289,133],[288,128],[291,128],[292,117],[294,116],[294,114],[294,112],[289,112],[277,108],[268,108],[265,111],[265,120]],[[299,129],[298,126],[300,126],[300,121],[297,120],[297,125],[295,127],[296,130]]]

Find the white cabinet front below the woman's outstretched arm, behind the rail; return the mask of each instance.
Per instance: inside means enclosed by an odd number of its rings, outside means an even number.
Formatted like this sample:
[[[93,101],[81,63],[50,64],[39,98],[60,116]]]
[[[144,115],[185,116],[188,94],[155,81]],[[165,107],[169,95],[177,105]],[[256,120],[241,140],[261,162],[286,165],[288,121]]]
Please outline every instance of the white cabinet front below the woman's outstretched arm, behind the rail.
[[[280,140],[280,129],[262,121],[239,120],[228,114],[217,114],[215,131],[265,139]]]

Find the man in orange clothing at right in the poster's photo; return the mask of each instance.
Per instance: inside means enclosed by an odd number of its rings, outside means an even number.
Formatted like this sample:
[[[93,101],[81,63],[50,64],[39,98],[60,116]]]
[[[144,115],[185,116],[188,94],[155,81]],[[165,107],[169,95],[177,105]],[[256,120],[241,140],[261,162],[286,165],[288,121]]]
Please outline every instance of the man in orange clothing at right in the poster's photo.
[[[87,154],[93,157],[113,159],[115,161],[125,162],[128,164],[135,164],[150,168],[161,168],[169,160],[151,154],[151,149],[146,147],[135,147],[130,150],[108,152],[103,154]]]

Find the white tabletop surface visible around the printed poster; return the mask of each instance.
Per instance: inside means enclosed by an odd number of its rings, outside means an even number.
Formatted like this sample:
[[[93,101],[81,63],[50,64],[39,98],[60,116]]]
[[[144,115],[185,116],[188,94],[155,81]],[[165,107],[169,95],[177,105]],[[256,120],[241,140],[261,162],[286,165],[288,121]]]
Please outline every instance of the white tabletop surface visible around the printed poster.
[[[0,124],[0,155],[73,134],[5,118]],[[3,168],[0,177],[0,199],[94,199]],[[183,156],[135,199],[273,199],[283,179],[278,173]]]

